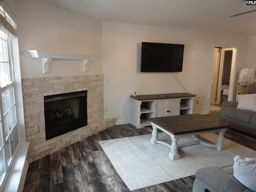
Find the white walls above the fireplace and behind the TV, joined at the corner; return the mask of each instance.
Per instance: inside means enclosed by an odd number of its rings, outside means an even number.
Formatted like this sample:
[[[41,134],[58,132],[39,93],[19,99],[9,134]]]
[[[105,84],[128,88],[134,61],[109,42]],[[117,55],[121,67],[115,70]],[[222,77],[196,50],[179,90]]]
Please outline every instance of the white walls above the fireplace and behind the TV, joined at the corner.
[[[105,117],[130,123],[130,94],[186,92],[172,74],[140,74],[141,42],[185,44],[184,66],[175,75],[189,92],[197,95],[194,112],[208,113],[214,47],[238,48],[238,67],[246,65],[248,37],[101,22],[40,0],[17,0],[18,39],[22,78],[104,74]],[[81,62],[50,63],[41,74],[40,63],[25,50],[102,55],[82,73]],[[237,68],[238,68],[237,67]]]

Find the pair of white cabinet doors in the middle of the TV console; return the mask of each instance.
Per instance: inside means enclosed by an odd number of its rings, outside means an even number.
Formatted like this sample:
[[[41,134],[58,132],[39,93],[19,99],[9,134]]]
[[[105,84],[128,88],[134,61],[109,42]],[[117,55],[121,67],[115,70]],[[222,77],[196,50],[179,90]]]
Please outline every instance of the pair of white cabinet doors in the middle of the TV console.
[[[156,117],[174,116],[179,114],[180,100],[156,102]]]

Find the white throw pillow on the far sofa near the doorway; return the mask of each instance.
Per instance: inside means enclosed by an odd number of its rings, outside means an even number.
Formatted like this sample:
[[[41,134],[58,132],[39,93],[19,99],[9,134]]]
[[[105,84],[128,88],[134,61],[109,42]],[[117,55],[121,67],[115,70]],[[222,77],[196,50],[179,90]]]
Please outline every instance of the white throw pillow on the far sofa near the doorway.
[[[256,111],[256,94],[237,95],[238,109]]]

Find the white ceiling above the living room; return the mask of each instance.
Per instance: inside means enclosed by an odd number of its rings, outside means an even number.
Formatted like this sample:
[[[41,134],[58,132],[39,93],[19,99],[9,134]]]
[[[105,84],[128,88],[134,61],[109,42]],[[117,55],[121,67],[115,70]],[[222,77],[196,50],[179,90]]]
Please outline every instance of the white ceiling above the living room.
[[[244,0],[42,0],[102,21],[256,35],[256,9]]]

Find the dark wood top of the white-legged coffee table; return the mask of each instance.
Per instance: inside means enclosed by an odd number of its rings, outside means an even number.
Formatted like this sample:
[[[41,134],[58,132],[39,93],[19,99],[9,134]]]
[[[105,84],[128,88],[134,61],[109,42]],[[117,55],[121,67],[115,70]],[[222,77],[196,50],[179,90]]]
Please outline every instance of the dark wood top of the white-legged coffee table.
[[[149,120],[173,135],[230,127],[230,124],[221,122],[218,118],[214,118],[209,114],[157,117]]]

